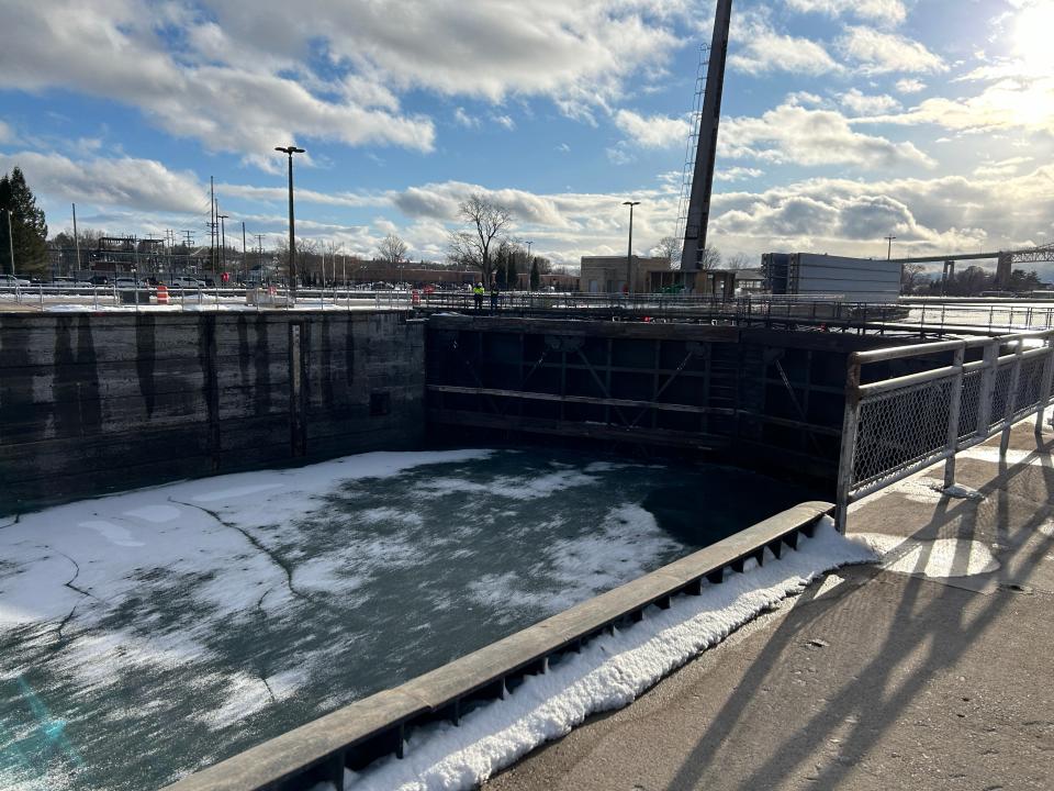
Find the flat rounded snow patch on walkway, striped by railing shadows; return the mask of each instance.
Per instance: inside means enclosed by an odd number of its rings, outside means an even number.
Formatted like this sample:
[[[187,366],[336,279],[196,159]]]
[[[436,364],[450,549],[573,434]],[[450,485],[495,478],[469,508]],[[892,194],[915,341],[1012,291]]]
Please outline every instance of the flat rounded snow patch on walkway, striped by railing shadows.
[[[882,567],[887,571],[948,579],[990,573],[999,568],[988,547],[965,538],[919,541],[882,533],[854,533],[853,537],[882,556]]]

